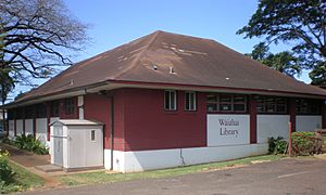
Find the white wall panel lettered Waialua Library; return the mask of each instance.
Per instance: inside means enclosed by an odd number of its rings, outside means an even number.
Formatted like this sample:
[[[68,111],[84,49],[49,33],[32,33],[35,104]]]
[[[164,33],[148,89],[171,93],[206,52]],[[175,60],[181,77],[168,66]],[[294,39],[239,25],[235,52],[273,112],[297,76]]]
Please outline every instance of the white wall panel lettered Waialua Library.
[[[248,144],[249,115],[208,115],[208,146]]]

